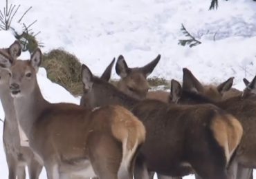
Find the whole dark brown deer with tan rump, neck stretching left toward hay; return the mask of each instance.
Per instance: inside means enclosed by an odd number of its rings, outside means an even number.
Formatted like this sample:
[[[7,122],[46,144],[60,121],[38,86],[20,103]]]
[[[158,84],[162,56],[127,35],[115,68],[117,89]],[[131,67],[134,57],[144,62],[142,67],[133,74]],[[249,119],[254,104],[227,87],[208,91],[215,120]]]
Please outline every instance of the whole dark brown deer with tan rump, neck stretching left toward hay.
[[[199,173],[202,178],[227,179],[226,166],[242,136],[238,120],[214,105],[168,105],[138,101],[82,65],[86,107],[118,104],[131,109],[147,130],[136,160],[135,178],[147,171],[166,176]]]

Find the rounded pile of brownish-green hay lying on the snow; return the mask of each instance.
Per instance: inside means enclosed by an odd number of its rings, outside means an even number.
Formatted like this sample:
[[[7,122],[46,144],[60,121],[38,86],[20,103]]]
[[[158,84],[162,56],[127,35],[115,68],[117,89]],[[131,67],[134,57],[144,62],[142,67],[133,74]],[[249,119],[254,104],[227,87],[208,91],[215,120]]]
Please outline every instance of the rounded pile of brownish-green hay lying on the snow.
[[[46,68],[51,81],[62,85],[74,96],[82,95],[82,65],[75,55],[60,49],[51,50],[44,54],[42,67]]]

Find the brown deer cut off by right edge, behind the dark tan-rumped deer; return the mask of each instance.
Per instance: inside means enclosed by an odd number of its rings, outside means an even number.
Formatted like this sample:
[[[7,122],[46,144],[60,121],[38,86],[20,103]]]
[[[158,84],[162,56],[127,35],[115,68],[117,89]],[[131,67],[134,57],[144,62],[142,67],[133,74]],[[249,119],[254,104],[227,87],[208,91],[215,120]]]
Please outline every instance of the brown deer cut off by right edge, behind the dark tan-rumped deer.
[[[212,101],[212,98],[205,96],[198,89],[200,84],[190,70],[183,68],[183,86],[178,85],[177,81],[172,81],[172,102],[185,105],[212,103],[235,116],[243,126],[244,134],[229,173],[233,178],[253,178],[253,169],[251,168],[256,166],[256,157],[254,156],[256,143],[253,143],[255,132],[252,126],[256,123],[254,111],[256,103],[241,95],[225,101]]]

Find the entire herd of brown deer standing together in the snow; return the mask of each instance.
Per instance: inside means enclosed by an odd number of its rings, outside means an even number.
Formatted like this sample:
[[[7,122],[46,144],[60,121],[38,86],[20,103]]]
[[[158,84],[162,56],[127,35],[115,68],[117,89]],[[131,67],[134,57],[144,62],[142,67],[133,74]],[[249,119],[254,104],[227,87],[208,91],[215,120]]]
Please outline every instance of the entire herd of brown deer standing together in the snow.
[[[15,41],[0,49],[3,146],[9,179],[252,179],[256,168],[256,76],[203,85],[183,68],[182,85],[149,91],[147,76],[161,56],[143,67],[116,62],[102,76],[82,65],[80,105],[49,103],[37,83],[42,52],[19,60]]]

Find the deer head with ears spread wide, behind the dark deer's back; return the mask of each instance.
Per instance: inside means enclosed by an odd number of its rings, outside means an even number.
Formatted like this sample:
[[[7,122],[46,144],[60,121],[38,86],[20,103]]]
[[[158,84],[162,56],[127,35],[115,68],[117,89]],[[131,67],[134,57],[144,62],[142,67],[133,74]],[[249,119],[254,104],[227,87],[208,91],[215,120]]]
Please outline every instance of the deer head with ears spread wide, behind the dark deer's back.
[[[124,56],[120,55],[116,62],[116,73],[121,77],[117,85],[118,89],[134,98],[145,98],[149,89],[147,76],[153,72],[160,59],[161,55],[158,54],[156,59],[147,65],[131,68],[125,62]]]

